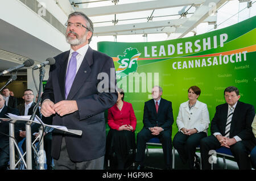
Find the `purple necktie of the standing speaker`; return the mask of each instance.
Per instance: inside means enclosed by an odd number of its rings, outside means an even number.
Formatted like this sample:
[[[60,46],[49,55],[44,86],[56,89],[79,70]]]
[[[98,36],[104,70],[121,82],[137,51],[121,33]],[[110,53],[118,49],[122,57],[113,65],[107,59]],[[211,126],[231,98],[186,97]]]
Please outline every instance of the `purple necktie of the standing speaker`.
[[[66,99],[68,97],[69,91],[71,89],[71,86],[73,84],[73,81],[76,77],[76,56],[77,56],[77,52],[73,52],[72,56],[69,60],[69,64],[68,64],[68,70],[67,70],[67,74],[66,74],[66,82],[65,82],[65,96]]]

